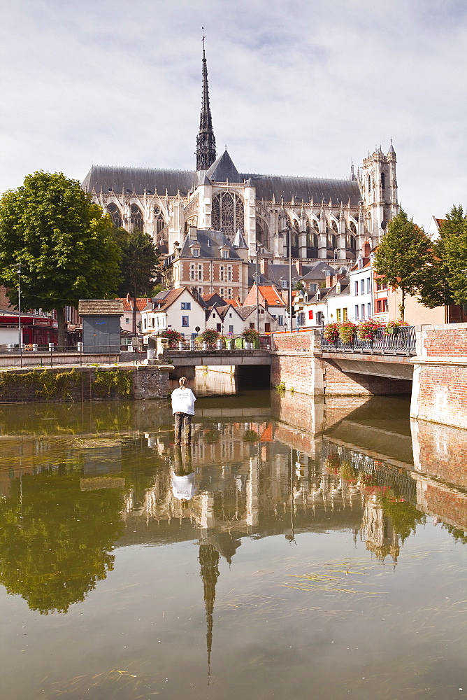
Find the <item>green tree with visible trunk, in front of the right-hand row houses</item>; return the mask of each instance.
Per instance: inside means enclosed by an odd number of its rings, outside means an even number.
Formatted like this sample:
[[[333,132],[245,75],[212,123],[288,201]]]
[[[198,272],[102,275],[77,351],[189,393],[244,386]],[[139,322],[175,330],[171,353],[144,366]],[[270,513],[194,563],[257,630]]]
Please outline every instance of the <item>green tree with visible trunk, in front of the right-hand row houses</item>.
[[[401,318],[405,297],[421,288],[426,269],[433,260],[431,241],[401,209],[387,227],[375,253],[375,272],[402,293]]]

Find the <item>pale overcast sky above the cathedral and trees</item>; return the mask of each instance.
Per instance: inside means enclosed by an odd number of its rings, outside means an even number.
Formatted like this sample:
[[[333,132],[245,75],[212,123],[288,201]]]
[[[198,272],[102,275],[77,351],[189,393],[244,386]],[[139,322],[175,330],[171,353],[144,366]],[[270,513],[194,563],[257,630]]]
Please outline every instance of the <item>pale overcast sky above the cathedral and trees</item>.
[[[343,178],[392,138],[409,216],[466,207],[465,0],[2,0],[0,192],[39,169],[194,169],[202,26],[240,172]]]

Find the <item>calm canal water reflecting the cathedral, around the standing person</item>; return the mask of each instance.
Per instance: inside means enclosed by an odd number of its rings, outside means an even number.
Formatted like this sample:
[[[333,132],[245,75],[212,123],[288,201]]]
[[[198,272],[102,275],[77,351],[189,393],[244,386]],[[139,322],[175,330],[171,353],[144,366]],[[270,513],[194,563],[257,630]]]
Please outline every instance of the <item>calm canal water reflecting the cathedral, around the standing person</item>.
[[[467,431],[408,409],[0,406],[2,700],[467,696]]]

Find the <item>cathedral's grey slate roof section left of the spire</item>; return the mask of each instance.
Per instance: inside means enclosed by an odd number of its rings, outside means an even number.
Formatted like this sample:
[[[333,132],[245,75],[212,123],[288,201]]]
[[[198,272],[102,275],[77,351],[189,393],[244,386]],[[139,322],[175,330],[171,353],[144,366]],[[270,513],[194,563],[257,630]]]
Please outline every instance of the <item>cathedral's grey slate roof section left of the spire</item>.
[[[122,192],[131,195],[143,195],[144,190],[148,195],[157,192],[158,195],[169,197],[180,192],[180,195],[187,195],[189,190],[197,184],[195,172],[189,170],[165,170],[155,168],[125,168],[111,167],[107,165],[93,165],[82,182],[82,189],[85,192],[95,190],[99,193],[115,192],[120,195]]]

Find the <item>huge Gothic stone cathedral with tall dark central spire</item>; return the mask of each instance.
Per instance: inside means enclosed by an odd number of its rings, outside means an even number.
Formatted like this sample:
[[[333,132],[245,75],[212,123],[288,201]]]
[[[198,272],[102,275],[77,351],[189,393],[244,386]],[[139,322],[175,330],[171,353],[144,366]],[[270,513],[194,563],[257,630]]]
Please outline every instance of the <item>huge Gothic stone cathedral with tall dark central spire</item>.
[[[237,230],[254,255],[353,260],[364,241],[376,244],[398,211],[396,153],[376,148],[349,179],[240,173],[227,148],[216,160],[208,69],[203,50],[203,87],[196,170],[92,166],[82,187],[117,226],[150,234],[162,253],[173,254],[189,227]]]

